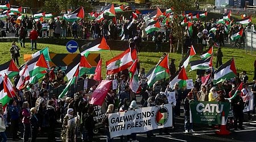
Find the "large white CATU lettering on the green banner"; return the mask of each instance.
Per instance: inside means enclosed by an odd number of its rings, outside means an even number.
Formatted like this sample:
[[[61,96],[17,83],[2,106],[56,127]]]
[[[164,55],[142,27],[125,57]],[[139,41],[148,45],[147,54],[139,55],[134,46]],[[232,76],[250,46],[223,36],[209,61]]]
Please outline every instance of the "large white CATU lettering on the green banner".
[[[207,105],[205,106],[203,103],[199,103],[196,106],[196,111],[200,113],[201,112],[210,112],[210,113],[217,112],[219,114],[223,111],[223,107],[224,105],[221,105],[221,107],[219,108],[219,105],[214,103],[212,104],[207,103]]]

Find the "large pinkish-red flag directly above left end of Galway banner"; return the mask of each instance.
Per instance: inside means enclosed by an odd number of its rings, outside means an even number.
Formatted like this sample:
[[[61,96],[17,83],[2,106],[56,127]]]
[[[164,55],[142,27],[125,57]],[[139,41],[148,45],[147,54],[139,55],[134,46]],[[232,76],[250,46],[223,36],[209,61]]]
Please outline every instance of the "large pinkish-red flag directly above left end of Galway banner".
[[[97,86],[96,90],[93,91],[92,99],[90,100],[90,104],[92,105],[102,105],[106,95],[108,94],[108,90],[110,85],[112,85],[112,80],[103,80]]]

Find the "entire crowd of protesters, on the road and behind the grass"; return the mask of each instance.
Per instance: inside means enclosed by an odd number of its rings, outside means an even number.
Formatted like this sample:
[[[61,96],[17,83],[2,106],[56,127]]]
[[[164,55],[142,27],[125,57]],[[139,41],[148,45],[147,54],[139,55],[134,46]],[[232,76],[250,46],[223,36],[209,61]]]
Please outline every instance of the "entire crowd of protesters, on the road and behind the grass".
[[[31,36],[31,31],[36,31],[39,37],[49,37],[49,38],[66,38],[73,37],[81,39],[97,39],[98,37],[105,36],[106,39],[116,40],[121,39],[119,33],[124,29],[123,34],[125,40],[141,39],[142,41],[155,41],[156,50],[162,49],[163,42],[170,42],[171,47],[177,43],[174,38],[174,32],[172,32],[172,24],[168,23],[166,25],[165,32],[155,32],[153,34],[146,34],[146,22],[143,18],[138,19],[137,22],[132,24],[132,26],[127,30],[127,21],[123,21],[123,18],[117,20],[117,24],[113,22],[108,23],[104,20],[101,23],[91,22],[86,20],[79,20],[78,22],[69,23],[65,20],[57,19],[49,20],[44,22],[32,22],[31,18],[24,18],[21,24],[13,23],[14,20],[8,19],[8,24],[14,24],[16,36],[20,37],[21,47],[24,46],[23,37]],[[44,31],[42,24],[48,23],[49,29]],[[241,30],[243,28],[240,25],[233,24],[229,32],[225,32],[224,24],[216,24],[214,20],[209,22],[193,22],[193,35],[188,35],[187,31],[184,32],[184,46],[188,50],[191,44],[203,44],[205,48],[212,47],[214,44],[224,45],[224,40],[229,41],[232,44],[237,44],[232,42],[230,36],[234,31]],[[123,28],[124,27],[124,28]],[[213,27],[218,28],[218,30],[212,32],[210,29]],[[33,30],[34,29],[34,30]],[[6,28],[9,32],[10,28]],[[24,30],[24,31],[23,31]],[[137,37],[137,38],[135,38]],[[242,39],[242,38],[241,38]],[[243,39],[242,39],[243,40]],[[31,42],[32,43],[32,42]],[[35,45],[36,48],[36,45]],[[33,48],[31,48],[33,49]],[[17,61],[19,48],[12,45],[10,52],[14,53],[12,56],[14,60]],[[172,49],[174,52],[176,49]],[[217,52],[217,62],[216,68],[222,64],[221,48]],[[173,76],[179,69],[175,68],[175,59],[171,60],[170,64],[170,74]],[[110,139],[108,131],[108,120],[107,116],[113,112],[122,112],[134,110],[139,107],[150,107],[150,106],[161,106],[168,103],[165,90],[175,92],[175,105],[172,105],[174,110],[174,117],[180,117],[181,106],[184,107],[184,129],[185,132],[194,132],[193,124],[189,121],[189,102],[190,101],[219,101],[225,102],[227,98],[234,95],[238,85],[241,82],[244,83],[245,91],[240,92],[231,102],[232,110],[234,112],[233,127],[235,130],[243,129],[243,107],[244,102],[241,98],[242,95],[246,95],[247,91],[253,91],[254,98],[256,94],[256,81],[251,90],[248,90],[249,78],[244,71],[241,76],[233,78],[232,80],[226,80],[225,82],[213,85],[212,81],[209,81],[206,85],[201,82],[201,77],[205,74],[209,74],[210,70],[198,70],[197,80],[194,82],[193,89],[186,89],[186,87],[180,88],[179,83],[175,83],[175,86],[170,88],[168,86],[168,80],[159,80],[154,83],[152,87],[147,86],[146,70],[141,68],[139,73],[139,78],[141,80],[142,91],[139,95],[142,96],[141,102],[137,102],[136,94],[130,90],[129,87],[129,71],[123,70],[117,74],[111,74],[106,77],[106,80],[118,80],[118,89],[113,90],[112,87],[108,90],[108,95],[105,98],[105,103],[107,106],[106,117],[102,119],[102,124],[106,128],[106,135],[108,136],[108,141]],[[93,91],[96,89],[96,85],[90,87],[90,89],[82,90],[77,93],[69,92],[64,99],[58,99],[59,94],[49,95],[50,88],[57,88],[61,85],[65,85],[64,81],[65,73],[61,70],[55,72],[54,69],[50,70],[48,74],[40,81],[39,88],[36,91],[35,85],[27,84],[22,90],[17,90],[18,97],[11,99],[9,105],[7,106],[7,111],[4,113],[3,106],[0,105],[1,118],[0,119],[0,135],[3,141],[6,141],[5,129],[11,126],[11,135],[13,140],[19,140],[21,134],[18,132],[23,129],[23,140],[28,141],[31,136],[31,141],[36,141],[36,136],[38,133],[46,132],[48,133],[48,141],[55,141],[55,128],[57,127],[57,122],[62,123],[61,140],[62,141],[76,141],[82,139],[82,141],[93,141],[93,129],[96,128],[96,123],[94,123],[93,116],[95,115],[94,107],[88,102],[92,97]],[[93,75],[88,76],[84,74],[79,80],[84,80],[85,78],[93,78]],[[14,85],[18,83],[19,76],[14,78]],[[140,103],[141,105],[137,105]],[[255,99],[254,99],[254,110],[252,112],[255,114]],[[250,118],[250,113],[249,119]],[[1,122],[2,121],[2,122]],[[173,119],[174,121],[174,119]],[[239,123],[238,123],[239,122]],[[21,125],[22,124],[22,125]],[[175,123],[173,122],[175,128]],[[170,130],[164,128],[159,130],[162,134],[169,133]],[[148,131],[147,136],[155,136],[155,131]],[[138,141],[136,139],[136,133],[127,135],[126,139],[131,141]],[[124,136],[121,136],[121,141],[123,141]]]

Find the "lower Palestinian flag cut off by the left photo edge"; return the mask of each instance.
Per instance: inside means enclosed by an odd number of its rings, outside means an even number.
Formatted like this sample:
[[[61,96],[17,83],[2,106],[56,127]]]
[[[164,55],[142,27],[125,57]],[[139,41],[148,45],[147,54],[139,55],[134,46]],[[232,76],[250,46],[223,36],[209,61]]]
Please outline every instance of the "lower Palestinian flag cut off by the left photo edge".
[[[6,106],[10,99],[16,96],[13,83],[11,83],[6,74],[4,79],[0,76],[0,89],[0,102],[3,104],[3,110],[6,111]]]

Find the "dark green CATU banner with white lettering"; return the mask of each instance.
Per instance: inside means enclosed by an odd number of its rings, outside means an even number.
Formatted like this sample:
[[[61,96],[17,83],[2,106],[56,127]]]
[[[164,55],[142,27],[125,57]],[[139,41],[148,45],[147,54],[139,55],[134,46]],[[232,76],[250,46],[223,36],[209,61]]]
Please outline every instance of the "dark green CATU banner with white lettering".
[[[229,102],[191,101],[190,110],[193,123],[221,124],[221,117],[228,118]]]

